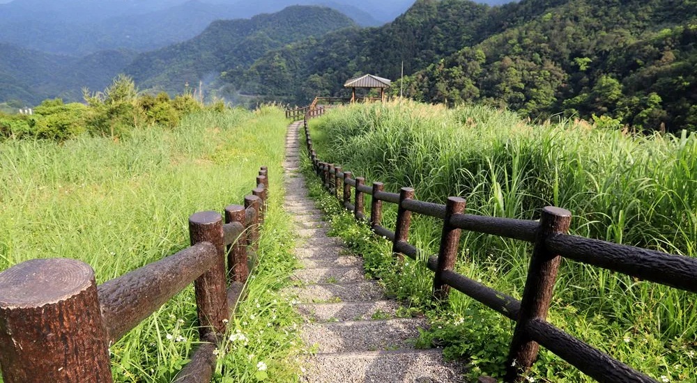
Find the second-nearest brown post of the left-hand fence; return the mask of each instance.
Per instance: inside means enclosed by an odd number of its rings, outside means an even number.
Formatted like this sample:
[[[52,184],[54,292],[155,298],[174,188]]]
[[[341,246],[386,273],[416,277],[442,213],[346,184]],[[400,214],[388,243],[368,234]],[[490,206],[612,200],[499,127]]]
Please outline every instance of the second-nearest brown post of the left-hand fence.
[[[198,212],[189,217],[191,244],[209,242],[217,249],[220,259],[208,272],[194,281],[196,306],[199,314],[199,338],[215,341],[225,334],[229,320],[227,283],[225,280],[225,242],[222,217],[217,212]]]

